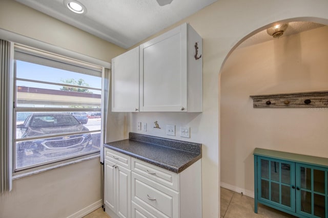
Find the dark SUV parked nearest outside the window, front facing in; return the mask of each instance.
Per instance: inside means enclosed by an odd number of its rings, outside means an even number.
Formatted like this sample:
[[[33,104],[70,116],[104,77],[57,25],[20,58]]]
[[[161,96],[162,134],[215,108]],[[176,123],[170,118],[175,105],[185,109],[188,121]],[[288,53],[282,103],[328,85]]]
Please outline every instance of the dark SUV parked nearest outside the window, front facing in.
[[[92,136],[89,129],[67,113],[33,113],[23,124],[17,125],[22,139],[34,138],[18,143],[18,149],[26,156],[58,156],[78,152],[92,147]],[[75,135],[65,135],[74,133]],[[77,134],[76,134],[77,133]],[[53,138],[43,136],[64,135]]]

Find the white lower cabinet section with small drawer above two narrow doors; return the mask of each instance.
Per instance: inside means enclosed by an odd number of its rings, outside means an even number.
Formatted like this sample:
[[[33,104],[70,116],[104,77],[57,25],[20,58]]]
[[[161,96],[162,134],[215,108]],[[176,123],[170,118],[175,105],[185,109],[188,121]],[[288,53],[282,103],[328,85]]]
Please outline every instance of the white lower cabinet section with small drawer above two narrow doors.
[[[112,218],[131,217],[131,158],[105,149],[105,205]]]

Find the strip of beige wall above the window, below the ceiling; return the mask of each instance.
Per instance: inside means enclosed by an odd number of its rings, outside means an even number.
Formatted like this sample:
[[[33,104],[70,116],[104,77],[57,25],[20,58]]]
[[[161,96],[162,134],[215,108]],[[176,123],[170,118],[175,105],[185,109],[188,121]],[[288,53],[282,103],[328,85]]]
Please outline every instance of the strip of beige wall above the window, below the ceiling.
[[[14,0],[0,1],[0,28],[107,62],[125,51]]]

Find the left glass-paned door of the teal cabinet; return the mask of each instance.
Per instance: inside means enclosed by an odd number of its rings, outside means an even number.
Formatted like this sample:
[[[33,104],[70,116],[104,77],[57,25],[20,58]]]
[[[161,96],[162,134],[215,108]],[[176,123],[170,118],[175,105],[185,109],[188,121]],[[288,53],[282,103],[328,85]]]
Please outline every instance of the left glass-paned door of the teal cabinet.
[[[295,212],[295,163],[258,157],[258,199]]]

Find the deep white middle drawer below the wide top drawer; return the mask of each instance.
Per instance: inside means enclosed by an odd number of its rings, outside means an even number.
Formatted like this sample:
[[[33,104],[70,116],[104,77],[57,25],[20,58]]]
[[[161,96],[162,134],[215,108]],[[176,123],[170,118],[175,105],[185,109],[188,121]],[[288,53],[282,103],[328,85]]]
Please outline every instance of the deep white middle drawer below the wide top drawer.
[[[157,217],[178,217],[179,193],[132,172],[132,201]],[[141,216],[142,217],[142,216]]]

